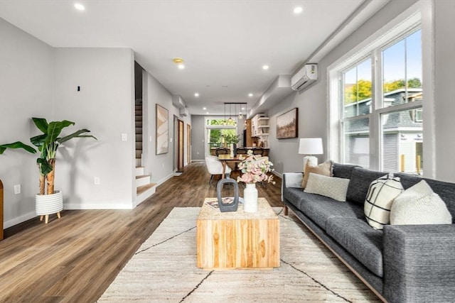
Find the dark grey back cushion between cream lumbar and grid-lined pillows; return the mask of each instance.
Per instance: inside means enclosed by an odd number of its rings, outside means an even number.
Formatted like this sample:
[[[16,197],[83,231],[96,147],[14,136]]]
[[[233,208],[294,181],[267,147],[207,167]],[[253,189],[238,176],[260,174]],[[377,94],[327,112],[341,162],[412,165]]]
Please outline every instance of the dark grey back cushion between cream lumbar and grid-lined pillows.
[[[346,201],[354,202],[363,206],[371,182],[378,179],[378,177],[382,177],[383,175],[384,172],[375,172],[373,170],[365,170],[364,168],[354,167],[353,172],[350,175]]]

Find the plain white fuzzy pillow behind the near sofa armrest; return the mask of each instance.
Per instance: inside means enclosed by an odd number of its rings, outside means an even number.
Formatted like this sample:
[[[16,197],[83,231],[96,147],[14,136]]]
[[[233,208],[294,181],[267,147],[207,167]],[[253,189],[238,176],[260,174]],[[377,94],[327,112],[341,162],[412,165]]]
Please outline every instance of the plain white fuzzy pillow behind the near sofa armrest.
[[[395,198],[390,209],[390,224],[451,224],[446,204],[425,180]]]

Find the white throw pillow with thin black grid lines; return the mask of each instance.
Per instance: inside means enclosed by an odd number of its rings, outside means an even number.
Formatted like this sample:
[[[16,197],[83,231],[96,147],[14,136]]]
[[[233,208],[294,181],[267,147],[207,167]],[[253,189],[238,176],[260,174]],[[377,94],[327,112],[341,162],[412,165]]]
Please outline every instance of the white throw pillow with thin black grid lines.
[[[385,175],[371,182],[363,206],[365,218],[371,227],[382,229],[382,226],[389,224],[392,202],[403,191],[400,177]]]

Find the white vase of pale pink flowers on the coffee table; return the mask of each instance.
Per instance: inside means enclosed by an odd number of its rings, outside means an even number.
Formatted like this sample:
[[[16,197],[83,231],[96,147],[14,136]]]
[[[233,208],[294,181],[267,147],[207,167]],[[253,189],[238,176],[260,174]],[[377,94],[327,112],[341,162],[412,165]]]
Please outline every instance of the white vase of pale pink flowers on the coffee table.
[[[257,211],[257,189],[256,182],[272,182],[273,176],[267,175],[267,172],[272,172],[273,163],[269,161],[268,157],[262,155],[253,155],[252,150],[248,150],[247,157],[239,156],[240,162],[238,164],[242,176],[237,177],[237,182],[245,182],[247,187],[243,191],[244,210],[246,212]]]

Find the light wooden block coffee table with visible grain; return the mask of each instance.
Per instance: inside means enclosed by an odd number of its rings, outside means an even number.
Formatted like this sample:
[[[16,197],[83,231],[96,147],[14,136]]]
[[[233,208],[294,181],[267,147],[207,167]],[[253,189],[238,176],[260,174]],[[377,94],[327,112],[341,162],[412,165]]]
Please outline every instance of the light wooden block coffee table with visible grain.
[[[222,213],[203,203],[196,227],[198,268],[279,267],[279,219],[265,198],[258,199],[255,213],[243,205]]]

